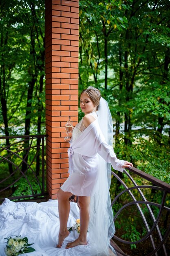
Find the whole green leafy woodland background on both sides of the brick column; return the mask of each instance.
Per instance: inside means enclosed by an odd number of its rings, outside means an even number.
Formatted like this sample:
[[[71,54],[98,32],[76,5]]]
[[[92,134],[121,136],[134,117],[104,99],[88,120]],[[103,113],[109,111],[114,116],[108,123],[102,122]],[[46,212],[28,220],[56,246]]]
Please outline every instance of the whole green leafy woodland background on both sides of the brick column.
[[[44,1],[2,0],[0,5],[1,135],[44,134]],[[168,0],[79,1],[79,92],[93,85],[108,101],[117,157],[167,183],[170,182],[169,17]],[[1,145],[10,143],[7,139]],[[0,173],[4,170],[8,172],[2,166]],[[144,184],[139,177],[134,178]],[[20,180],[19,193],[25,186]],[[121,189],[113,178],[112,198]],[[148,200],[161,201],[161,193],[147,190],[145,195]],[[124,195],[113,210],[116,212],[128,200],[128,195]],[[166,205],[170,205],[169,198]],[[117,232],[131,241],[139,239],[146,230],[139,228],[137,209],[130,207],[126,211],[123,215],[127,218],[122,215],[115,222]],[[143,211],[147,214],[145,207]],[[153,211],[157,216],[158,209]],[[167,218],[165,213],[162,234]],[[146,246],[127,245],[124,249],[131,255],[142,255]]]

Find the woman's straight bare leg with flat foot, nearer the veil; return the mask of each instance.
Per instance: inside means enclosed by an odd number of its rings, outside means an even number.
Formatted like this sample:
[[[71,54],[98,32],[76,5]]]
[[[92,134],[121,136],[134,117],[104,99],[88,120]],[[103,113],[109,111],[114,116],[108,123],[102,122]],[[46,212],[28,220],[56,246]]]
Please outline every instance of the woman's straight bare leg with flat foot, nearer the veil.
[[[72,243],[68,243],[66,249],[75,247],[77,245],[87,244],[87,230],[89,223],[88,208],[90,204],[90,196],[79,196],[80,207],[80,233],[79,237]]]

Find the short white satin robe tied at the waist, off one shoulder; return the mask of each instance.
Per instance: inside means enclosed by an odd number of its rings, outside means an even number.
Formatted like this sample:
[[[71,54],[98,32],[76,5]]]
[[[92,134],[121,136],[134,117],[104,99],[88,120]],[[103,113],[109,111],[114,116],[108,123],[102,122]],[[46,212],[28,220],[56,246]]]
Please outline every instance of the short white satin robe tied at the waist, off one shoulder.
[[[97,119],[83,132],[79,131],[80,135],[74,140],[75,129],[68,149],[70,175],[61,189],[73,195],[91,196],[97,179],[99,155],[121,172],[125,161],[117,159],[113,147],[105,142]]]

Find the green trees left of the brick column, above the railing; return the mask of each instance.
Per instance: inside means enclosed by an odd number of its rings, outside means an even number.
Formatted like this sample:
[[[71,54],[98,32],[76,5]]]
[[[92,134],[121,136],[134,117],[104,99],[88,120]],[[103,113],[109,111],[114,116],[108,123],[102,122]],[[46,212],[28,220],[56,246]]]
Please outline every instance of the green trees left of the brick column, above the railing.
[[[0,132],[24,134],[26,119],[31,119],[29,129],[37,133],[38,117],[45,121],[44,1],[0,4]]]

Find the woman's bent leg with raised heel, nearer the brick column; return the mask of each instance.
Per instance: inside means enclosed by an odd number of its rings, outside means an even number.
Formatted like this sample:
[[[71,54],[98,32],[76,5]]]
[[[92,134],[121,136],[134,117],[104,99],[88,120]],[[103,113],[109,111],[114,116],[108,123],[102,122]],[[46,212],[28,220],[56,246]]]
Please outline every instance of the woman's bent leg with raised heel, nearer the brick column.
[[[62,189],[59,189],[57,192],[58,199],[58,213],[60,219],[60,230],[58,235],[58,248],[61,248],[64,239],[70,234],[67,230],[67,221],[70,212],[70,202],[69,198],[73,195],[70,192],[64,192]]]

